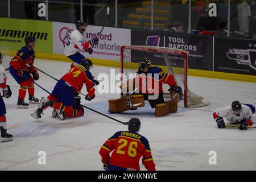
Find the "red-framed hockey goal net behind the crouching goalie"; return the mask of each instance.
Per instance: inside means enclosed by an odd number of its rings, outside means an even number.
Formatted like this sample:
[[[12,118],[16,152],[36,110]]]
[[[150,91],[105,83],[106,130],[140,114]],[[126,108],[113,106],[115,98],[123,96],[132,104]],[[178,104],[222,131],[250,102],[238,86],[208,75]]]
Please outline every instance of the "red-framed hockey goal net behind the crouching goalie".
[[[184,107],[201,107],[208,105],[202,96],[188,89],[188,51],[154,46],[122,46],[121,47],[121,82],[133,78],[138,71],[138,60],[147,57],[152,66],[163,69],[174,76],[177,85],[183,89]],[[163,84],[165,97],[170,97],[168,84]]]

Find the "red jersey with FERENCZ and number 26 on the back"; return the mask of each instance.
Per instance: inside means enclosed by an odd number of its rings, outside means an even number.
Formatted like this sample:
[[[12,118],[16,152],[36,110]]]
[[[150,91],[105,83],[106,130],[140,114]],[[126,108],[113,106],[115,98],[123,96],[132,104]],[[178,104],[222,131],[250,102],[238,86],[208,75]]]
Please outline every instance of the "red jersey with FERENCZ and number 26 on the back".
[[[113,151],[113,152],[112,152]],[[110,152],[112,156],[110,157]],[[139,171],[139,159],[148,171],[155,171],[148,140],[142,135],[130,131],[118,131],[101,147],[102,162],[109,161],[109,165],[131,168]]]

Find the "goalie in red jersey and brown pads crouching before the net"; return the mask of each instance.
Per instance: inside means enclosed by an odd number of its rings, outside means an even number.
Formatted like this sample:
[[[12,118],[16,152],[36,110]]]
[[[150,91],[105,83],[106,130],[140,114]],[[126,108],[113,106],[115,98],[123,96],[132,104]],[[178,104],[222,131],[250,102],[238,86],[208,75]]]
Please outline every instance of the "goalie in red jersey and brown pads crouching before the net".
[[[169,91],[173,101],[177,102],[181,99],[183,96],[182,89],[177,85],[172,75],[164,73],[159,67],[151,67],[151,61],[147,58],[139,60],[137,76],[133,80],[128,80],[125,84],[121,85],[123,93],[127,93],[126,98],[121,98],[121,101],[116,100],[117,102],[110,100],[110,112],[118,113],[129,109],[134,110],[137,107],[144,106],[144,100],[147,100],[151,108],[156,108],[156,116],[167,115],[170,112],[168,104],[164,102],[163,84],[170,86]],[[125,99],[130,102],[130,107],[122,106],[127,105]],[[139,106],[133,103],[134,100],[141,102],[142,105]],[[114,104],[118,105],[118,110],[112,109]]]

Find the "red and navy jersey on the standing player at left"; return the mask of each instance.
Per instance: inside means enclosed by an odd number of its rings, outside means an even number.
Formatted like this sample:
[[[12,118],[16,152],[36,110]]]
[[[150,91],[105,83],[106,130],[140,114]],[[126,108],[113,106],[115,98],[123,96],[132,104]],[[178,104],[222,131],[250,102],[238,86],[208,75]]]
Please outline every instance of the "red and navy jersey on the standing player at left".
[[[16,52],[16,55],[11,59],[10,65],[13,66],[14,70],[23,69],[24,71],[34,71],[34,60],[35,51],[29,50],[27,46],[22,47]],[[29,65],[29,67],[27,66]]]

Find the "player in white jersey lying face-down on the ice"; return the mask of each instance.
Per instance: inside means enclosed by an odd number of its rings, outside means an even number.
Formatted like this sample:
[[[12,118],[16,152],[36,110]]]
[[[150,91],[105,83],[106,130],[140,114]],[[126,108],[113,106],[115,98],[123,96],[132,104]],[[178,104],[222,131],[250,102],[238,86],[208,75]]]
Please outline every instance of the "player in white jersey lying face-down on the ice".
[[[226,106],[221,109],[216,109],[213,112],[213,118],[217,122],[220,129],[226,127],[224,119],[230,123],[240,124],[240,130],[246,130],[247,126],[252,126],[254,123],[253,114],[255,106],[251,104],[240,104],[239,101],[233,101],[231,106]]]

